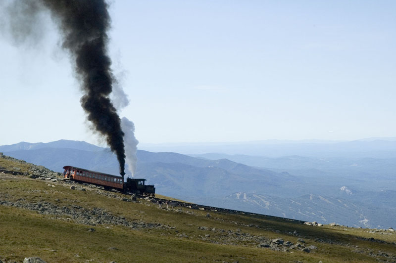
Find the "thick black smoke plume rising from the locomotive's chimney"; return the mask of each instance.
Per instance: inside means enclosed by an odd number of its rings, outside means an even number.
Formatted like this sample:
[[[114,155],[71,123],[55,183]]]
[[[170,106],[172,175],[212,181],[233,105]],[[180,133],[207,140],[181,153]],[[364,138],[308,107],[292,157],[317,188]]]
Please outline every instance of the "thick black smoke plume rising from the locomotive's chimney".
[[[8,3],[3,10],[10,13],[10,28],[17,29],[11,34],[17,40],[25,40],[27,34],[34,35],[39,31],[32,21],[37,21],[38,14],[49,9],[61,33],[62,47],[69,52],[84,91],[81,105],[95,130],[105,137],[110,149],[117,155],[120,175],[124,176],[124,132],[117,110],[109,98],[115,79],[107,55],[110,16],[106,1],[8,0]]]

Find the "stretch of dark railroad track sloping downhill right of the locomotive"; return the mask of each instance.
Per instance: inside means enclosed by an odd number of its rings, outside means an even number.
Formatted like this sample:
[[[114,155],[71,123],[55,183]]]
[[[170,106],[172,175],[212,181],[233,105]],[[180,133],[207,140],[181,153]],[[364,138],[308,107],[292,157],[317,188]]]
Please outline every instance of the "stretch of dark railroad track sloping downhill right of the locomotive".
[[[169,205],[177,205],[177,206],[181,206],[181,207],[187,207],[187,208],[190,208],[190,209],[198,209],[198,210],[205,210],[205,211],[216,211],[216,212],[223,212],[223,213],[227,213],[227,214],[259,216],[259,217],[264,217],[264,218],[267,218],[267,219],[278,219],[278,220],[294,222],[294,223],[297,223],[297,224],[303,224],[305,222],[305,221],[297,220],[297,219],[288,219],[288,218],[274,217],[274,216],[268,216],[268,215],[263,215],[263,214],[251,213],[251,212],[246,212],[246,211],[239,211],[239,210],[226,209],[226,208],[220,208],[220,207],[212,207],[212,206],[204,206],[204,205],[198,205],[198,204],[192,204],[192,203],[186,203],[186,202],[180,202],[180,201],[168,200],[168,199],[162,199],[162,198],[156,198],[156,197],[154,197],[152,199],[157,200],[157,203],[159,205],[168,205],[168,206]]]

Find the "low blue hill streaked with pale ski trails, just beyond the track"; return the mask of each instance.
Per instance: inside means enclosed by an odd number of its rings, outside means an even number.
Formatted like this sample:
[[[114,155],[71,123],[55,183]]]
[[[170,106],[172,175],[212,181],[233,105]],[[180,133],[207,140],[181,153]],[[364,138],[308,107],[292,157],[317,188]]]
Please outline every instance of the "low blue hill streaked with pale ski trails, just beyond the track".
[[[218,207],[238,209],[283,218],[321,223],[343,222],[361,227],[389,227],[395,222],[395,207],[379,208],[362,201],[340,197],[307,194],[297,198],[237,192],[224,198],[207,198],[205,202]]]

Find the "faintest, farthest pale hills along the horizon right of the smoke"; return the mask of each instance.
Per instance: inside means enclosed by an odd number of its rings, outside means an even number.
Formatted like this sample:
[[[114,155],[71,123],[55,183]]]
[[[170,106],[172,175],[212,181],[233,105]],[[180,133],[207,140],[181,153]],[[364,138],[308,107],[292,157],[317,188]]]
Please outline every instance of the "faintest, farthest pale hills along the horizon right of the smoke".
[[[183,154],[212,152],[267,157],[299,155],[310,157],[396,158],[396,139],[394,137],[354,141],[266,140],[232,143],[145,144],[144,148],[149,151],[170,151]]]

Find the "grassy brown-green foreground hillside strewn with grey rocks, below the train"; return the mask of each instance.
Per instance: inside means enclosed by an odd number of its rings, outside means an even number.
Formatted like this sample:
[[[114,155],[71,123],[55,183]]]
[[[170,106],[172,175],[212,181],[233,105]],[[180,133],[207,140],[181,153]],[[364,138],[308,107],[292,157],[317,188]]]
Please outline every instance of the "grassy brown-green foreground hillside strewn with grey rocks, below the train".
[[[11,158],[0,158],[0,166],[41,171]],[[284,243],[271,241],[276,238]],[[391,230],[159,208],[150,200],[133,201],[60,178],[0,173],[3,262],[21,263],[33,256],[47,263],[395,262],[395,241]]]

